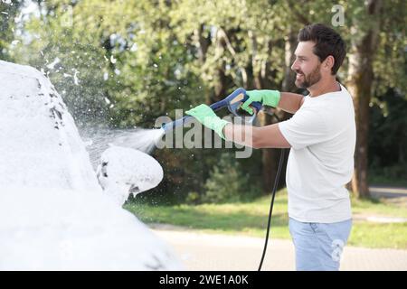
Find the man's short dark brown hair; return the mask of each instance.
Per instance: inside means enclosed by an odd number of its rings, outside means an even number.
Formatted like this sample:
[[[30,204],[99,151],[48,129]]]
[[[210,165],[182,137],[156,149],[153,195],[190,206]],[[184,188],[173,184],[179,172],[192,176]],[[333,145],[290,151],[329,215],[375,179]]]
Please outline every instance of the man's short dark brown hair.
[[[298,42],[315,42],[314,54],[317,55],[319,61],[332,55],[335,59],[331,73],[335,75],[342,62],[345,59],[345,42],[341,35],[336,33],[332,28],[321,23],[314,23],[305,26],[298,33]]]

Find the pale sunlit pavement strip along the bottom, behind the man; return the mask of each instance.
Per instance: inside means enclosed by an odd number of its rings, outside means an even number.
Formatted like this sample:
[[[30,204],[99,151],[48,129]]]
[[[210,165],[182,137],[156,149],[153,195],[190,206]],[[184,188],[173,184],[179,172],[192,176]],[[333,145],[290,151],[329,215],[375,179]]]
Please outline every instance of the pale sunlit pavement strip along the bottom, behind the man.
[[[264,245],[262,238],[153,229],[175,249],[186,270],[257,270]],[[345,247],[341,270],[407,271],[407,250]],[[294,270],[290,240],[270,239],[263,270]]]

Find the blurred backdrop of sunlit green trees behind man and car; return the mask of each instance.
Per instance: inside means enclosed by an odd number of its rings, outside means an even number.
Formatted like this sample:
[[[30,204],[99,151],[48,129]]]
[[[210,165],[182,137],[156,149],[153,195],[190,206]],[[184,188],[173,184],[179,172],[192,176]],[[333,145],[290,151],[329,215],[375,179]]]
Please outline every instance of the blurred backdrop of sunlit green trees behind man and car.
[[[176,108],[210,104],[239,87],[307,94],[289,69],[297,33],[326,23],[345,39],[338,79],[355,100],[348,187],[369,198],[372,184],[407,186],[406,8],[403,0],[1,0],[0,59],[42,70],[80,130],[152,128],[156,117],[174,119]],[[264,113],[258,120],[278,121]],[[279,162],[274,149],[247,159],[233,149],[153,155],[165,179],[137,198],[160,204],[261,197]]]

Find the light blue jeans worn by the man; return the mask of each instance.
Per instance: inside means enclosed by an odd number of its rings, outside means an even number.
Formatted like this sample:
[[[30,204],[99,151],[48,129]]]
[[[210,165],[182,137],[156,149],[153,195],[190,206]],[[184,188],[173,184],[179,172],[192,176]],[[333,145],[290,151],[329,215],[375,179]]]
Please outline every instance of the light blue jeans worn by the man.
[[[352,219],[336,223],[304,223],[289,218],[298,271],[337,271]]]

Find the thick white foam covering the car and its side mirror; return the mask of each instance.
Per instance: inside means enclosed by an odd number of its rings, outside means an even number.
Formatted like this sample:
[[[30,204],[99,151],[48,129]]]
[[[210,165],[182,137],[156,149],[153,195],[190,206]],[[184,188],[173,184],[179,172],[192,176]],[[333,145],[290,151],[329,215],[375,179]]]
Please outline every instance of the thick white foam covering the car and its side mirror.
[[[0,88],[0,270],[181,268],[101,189],[73,118],[41,72],[0,61]],[[107,154],[108,168],[121,156]]]

